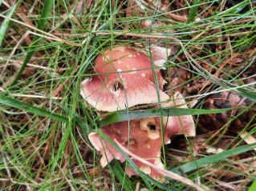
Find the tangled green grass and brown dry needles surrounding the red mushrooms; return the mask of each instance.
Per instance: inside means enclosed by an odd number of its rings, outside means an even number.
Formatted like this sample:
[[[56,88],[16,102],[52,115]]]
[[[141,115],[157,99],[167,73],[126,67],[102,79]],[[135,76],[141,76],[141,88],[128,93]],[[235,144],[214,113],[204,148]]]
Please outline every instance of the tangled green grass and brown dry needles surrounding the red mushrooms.
[[[104,124],[181,112],[193,114],[197,136],[165,145],[167,169],[203,189],[254,190],[255,2],[170,1],[165,10],[150,1],[81,2],[0,1],[0,188],[190,190],[170,178],[154,181],[129,159],[101,168],[87,138]],[[152,26],[144,28],[144,19]],[[165,91],[181,88],[191,108],[140,108],[100,121],[79,95],[96,56],[116,44],[149,43],[173,48],[165,78],[173,70],[189,78],[177,74],[179,86]],[[141,177],[125,176],[127,166]]]

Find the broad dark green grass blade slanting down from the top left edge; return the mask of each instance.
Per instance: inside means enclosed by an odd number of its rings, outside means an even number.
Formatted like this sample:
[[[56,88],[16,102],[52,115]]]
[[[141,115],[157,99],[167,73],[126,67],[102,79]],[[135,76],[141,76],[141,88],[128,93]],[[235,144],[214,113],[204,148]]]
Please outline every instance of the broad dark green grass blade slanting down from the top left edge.
[[[51,8],[53,5],[54,5],[54,0],[45,1],[43,3],[42,14],[39,18],[39,25],[38,25],[39,30],[44,30],[44,28],[47,24],[47,18],[49,17],[49,15],[51,13]],[[25,70],[27,63],[30,62],[30,58],[35,53],[35,47],[36,47],[35,45],[38,44],[39,39],[40,39],[39,36],[35,36],[35,38],[33,39],[33,42],[30,45],[29,50],[27,51],[26,58],[22,64],[20,70],[18,70],[18,74],[17,74],[16,78],[14,78],[14,81],[10,84],[10,87],[14,86],[18,82],[18,79],[21,78],[23,70]]]

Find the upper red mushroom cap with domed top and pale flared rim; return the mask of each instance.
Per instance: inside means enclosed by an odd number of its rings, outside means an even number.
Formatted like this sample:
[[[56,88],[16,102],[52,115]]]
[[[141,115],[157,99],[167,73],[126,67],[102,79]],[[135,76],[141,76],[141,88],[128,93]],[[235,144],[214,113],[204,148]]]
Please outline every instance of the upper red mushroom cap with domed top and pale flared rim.
[[[161,89],[163,78],[160,70],[155,71]],[[148,55],[132,47],[116,46],[96,58],[94,75],[82,82],[81,95],[95,109],[108,112],[167,101],[169,96],[156,90],[154,82]]]

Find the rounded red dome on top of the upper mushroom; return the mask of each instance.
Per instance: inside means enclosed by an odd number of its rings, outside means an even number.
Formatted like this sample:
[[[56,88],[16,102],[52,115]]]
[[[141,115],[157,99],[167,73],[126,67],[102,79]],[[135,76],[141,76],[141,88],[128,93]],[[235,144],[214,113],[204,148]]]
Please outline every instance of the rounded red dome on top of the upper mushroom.
[[[102,75],[102,79],[116,78],[121,72],[122,77],[131,74],[144,75],[153,81],[152,64],[147,54],[130,46],[115,46],[111,50],[101,53],[95,60],[95,72]]]

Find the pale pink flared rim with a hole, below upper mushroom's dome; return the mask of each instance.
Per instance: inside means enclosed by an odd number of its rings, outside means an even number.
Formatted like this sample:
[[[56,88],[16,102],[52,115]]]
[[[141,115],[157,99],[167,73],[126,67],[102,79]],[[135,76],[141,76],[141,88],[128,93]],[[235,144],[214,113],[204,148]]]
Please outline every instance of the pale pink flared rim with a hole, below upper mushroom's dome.
[[[81,95],[98,111],[116,111],[135,105],[169,100],[169,96],[146,78],[119,78],[102,82],[99,76],[82,82]],[[158,98],[159,96],[159,98]]]

